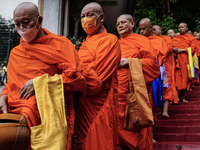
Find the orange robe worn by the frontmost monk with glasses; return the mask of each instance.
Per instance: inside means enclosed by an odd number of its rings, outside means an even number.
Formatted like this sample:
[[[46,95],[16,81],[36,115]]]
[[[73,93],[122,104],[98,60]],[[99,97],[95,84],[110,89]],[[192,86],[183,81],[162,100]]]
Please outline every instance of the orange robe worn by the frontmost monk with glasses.
[[[1,95],[8,95],[9,113],[24,115],[29,127],[37,126],[41,120],[36,97],[34,95],[28,100],[20,99],[20,88],[28,80],[43,74],[61,74],[65,86],[66,118],[69,127],[67,149],[71,149],[75,121],[72,91],[84,92],[86,82],[81,74],[82,65],[74,45],[64,36],[43,30],[45,36],[31,43],[26,43],[21,38],[20,44],[12,49],[7,67],[7,83]]]

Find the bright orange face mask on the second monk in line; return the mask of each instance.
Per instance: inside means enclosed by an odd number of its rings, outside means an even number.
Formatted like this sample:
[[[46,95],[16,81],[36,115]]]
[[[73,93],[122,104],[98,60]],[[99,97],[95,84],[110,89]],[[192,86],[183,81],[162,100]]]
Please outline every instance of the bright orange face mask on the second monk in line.
[[[97,30],[97,28],[101,24],[100,23],[98,26],[96,26],[96,21],[99,18],[99,16],[97,18],[84,17],[81,19],[81,25],[87,34],[92,34],[95,30]]]

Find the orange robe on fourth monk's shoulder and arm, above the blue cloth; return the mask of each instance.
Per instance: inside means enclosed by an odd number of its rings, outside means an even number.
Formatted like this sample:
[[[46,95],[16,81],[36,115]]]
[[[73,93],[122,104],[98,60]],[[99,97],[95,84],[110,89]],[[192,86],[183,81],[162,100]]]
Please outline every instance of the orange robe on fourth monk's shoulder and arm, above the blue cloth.
[[[166,61],[169,49],[167,48],[165,41],[159,36],[152,34],[151,36],[148,36],[148,39],[151,41],[156,50],[159,66],[161,66]]]

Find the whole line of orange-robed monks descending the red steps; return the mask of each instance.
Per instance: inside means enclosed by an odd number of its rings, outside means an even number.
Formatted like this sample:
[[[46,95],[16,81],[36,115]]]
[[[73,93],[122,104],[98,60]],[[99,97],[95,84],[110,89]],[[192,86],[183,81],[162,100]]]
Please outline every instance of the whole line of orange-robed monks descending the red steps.
[[[43,18],[33,3],[21,3],[13,16],[22,38],[10,53],[0,111],[21,115],[31,132],[44,119],[37,107],[40,105],[37,98],[43,93],[36,93],[35,78],[59,74],[64,85],[68,128],[67,145],[61,149],[72,148],[76,122],[77,150],[153,150],[156,139],[152,126],[135,131],[123,128],[129,93],[128,58],[142,61],[155,124],[159,113],[170,117],[169,104],[186,104],[186,91],[199,82],[198,70],[196,79],[188,77],[187,48],[191,48],[192,55],[200,56],[200,33],[191,35],[186,23],[179,24],[179,33],[169,29],[168,35],[162,35],[159,25],[152,26],[149,18],[143,18],[139,22],[140,34],[136,34],[133,17],[122,14],[116,20],[118,39],[103,26],[102,7],[92,2],[81,11],[81,24],[87,37],[76,52],[67,38],[41,27]],[[165,70],[164,79],[161,79],[161,68]],[[156,79],[162,82],[161,109],[156,107],[156,95],[152,94],[152,82]],[[28,149],[31,148],[34,149],[30,142]]]

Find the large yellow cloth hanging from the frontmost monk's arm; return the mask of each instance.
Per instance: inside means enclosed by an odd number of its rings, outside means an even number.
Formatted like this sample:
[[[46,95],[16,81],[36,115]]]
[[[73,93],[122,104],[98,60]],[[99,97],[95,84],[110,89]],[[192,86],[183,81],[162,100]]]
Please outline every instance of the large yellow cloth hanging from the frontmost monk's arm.
[[[67,148],[67,121],[63,80],[60,75],[44,74],[33,79],[41,124],[31,127],[33,150],[65,150]]]

